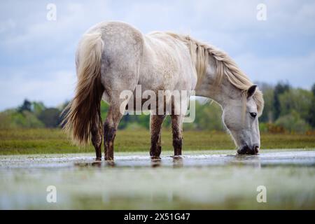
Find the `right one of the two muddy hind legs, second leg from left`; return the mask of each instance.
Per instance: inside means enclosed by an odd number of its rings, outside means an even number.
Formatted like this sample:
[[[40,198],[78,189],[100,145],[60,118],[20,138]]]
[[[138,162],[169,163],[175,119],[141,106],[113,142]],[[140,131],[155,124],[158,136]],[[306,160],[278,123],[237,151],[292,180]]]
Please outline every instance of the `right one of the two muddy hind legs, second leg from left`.
[[[116,137],[116,130],[123,114],[119,111],[119,106],[111,105],[109,113],[104,122],[104,148],[105,160],[113,160],[113,144]]]

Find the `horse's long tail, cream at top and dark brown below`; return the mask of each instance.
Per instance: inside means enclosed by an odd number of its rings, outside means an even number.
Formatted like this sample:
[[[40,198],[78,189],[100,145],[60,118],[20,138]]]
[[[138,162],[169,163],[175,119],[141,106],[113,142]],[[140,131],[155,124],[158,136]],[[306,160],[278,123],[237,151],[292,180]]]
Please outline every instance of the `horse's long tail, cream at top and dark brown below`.
[[[93,125],[102,128],[100,104],[104,87],[101,82],[101,59],[104,42],[99,32],[85,34],[78,49],[76,94],[64,109],[62,122],[73,142],[86,145]],[[97,117],[98,116],[98,117]]]

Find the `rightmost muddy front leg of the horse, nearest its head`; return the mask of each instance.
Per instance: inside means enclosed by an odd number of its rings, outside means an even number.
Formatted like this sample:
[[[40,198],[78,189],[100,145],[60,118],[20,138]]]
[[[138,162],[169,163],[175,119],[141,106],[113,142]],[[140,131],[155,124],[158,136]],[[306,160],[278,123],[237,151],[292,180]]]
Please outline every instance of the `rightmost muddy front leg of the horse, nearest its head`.
[[[181,155],[181,147],[183,144],[183,118],[179,115],[172,115],[172,132],[174,156]]]

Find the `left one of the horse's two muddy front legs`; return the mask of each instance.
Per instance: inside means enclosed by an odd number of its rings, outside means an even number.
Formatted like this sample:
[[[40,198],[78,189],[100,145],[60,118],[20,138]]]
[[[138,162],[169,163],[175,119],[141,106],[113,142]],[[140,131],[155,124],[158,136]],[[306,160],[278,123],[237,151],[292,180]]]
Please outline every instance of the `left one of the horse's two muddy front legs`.
[[[151,115],[150,132],[151,132],[151,149],[150,155],[153,159],[160,158],[161,154],[161,127],[165,115]]]

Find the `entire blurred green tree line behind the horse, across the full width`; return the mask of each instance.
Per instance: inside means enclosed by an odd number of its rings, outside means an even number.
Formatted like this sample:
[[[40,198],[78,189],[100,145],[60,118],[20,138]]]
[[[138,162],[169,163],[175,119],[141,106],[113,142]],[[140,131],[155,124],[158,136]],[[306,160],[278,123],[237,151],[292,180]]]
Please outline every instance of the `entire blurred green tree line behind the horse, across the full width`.
[[[288,83],[269,85],[259,83],[265,99],[265,109],[260,120],[262,132],[296,132],[305,133],[315,130],[315,84],[311,90],[291,87]],[[46,107],[42,102],[27,99],[15,109],[0,112],[0,128],[59,128],[62,121],[61,112],[69,102],[57,107]],[[211,100],[195,102],[195,122],[184,123],[185,130],[223,131],[222,110]],[[102,118],[106,118],[109,105],[102,102]],[[123,116],[119,129],[148,129],[150,116]],[[163,124],[170,127],[169,117]]]

